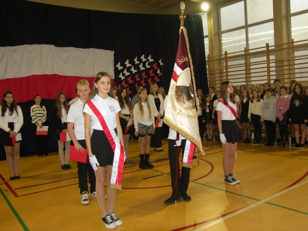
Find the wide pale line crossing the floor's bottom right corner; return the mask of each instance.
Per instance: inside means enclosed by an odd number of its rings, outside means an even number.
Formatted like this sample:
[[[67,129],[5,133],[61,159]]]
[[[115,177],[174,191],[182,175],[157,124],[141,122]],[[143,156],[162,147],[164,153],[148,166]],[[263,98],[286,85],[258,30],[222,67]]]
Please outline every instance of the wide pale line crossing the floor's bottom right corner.
[[[266,198],[266,199],[262,199],[261,201],[255,203],[255,204],[253,204],[253,205],[251,205],[251,206],[247,206],[247,207],[245,207],[245,208],[242,208],[242,209],[240,209],[240,210],[238,210],[238,211],[236,211],[236,212],[231,213],[230,215],[227,215],[227,216],[225,216],[225,217],[222,217],[222,218],[220,218],[220,219],[218,219],[218,220],[216,220],[216,221],[214,221],[214,222],[211,222],[211,223],[207,224],[206,226],[200,227],[200,228],[196,229],[195,231],[205,230],[206,228],[209,228],[209,227],[211,227],[211,226],[214,226],[214,225],[216,225],[217,223],[220,223],[220,222],[222,222],[222,221],[224,221],[224,220],[227,220],[227,219],[229,219],[229,218],[231,218],[231,217],[234,217],[234,216],[236,216],[236,215],[238,215],[238,214],[240,214],[240,213],[242,213],[242,212],[245,212],[246,210],[249,210],[249,209],[251,209],[251,208],[255,208],[256,206],[259,206],[259,204],[266,203],[266,202],[268,202],[270,199],[273,199],[274,197],[278,197],[279,195],[282,195],[283,193],[287,193],[288,191],[291,191],[292,189],[296,189],[297,187],[302,186],[303,184],[307,184],[307,183],[308,183],[308,180],[306,180],[306,181],[304,181],[304,182],[301,182],[301,183],[299,183],[299,184],[296,184],[296,185],[294,185],[294,186],[291,186],[290,188],[284,189],[283,191],[280,191],[279,193],[275,193],[274,195],[272,195],[272,196],[270,196],[270,197],[268,197],[268,198]],[[268,204],[269,204],[269,203],[268,203]],[[276,205],[276,204],[273,204],[273,205]],[[283,207],[283,206],[281,206],[281,207],[282,207],[282,208],[286,208],[286,207]],[[287,209],[290,209],[290,208],[287,208]],[[298,211],[296,210],[296,212],[298,212]]]

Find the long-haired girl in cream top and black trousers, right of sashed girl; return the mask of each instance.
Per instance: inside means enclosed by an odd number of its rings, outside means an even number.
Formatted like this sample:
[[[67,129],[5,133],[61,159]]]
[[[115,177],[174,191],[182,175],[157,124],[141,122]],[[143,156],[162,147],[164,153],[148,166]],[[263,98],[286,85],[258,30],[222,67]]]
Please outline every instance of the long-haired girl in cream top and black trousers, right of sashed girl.
[[[249,122],[253,124],[255,130],[254,145],[261,144],[261,123],[264,122],[261,120],[261,118],[263,118],[261,111],[262,103],[263,100],[260,98],[259,91],[253,90],[253,97],[251,98],[251,101],[249,101],[248,118]]]

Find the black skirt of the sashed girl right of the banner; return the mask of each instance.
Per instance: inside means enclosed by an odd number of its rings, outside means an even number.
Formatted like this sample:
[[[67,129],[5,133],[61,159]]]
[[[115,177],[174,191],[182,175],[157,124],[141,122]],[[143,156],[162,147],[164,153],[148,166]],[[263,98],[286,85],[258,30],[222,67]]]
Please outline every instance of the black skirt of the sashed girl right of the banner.
[[[227,139],[227,143],[235,143],[243,139],[238,123],[233,121],[221,121],[222,133]]]

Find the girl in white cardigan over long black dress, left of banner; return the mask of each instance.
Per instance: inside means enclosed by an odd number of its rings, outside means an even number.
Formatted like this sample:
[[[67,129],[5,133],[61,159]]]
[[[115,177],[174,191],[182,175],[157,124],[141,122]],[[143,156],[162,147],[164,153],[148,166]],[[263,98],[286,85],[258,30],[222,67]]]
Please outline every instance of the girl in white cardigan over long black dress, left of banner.
[[[155,121],[158,121],[158,126],[155,127],[155,133],[151,136],[150,147],[154,147],[154,151],[164,151],[160,147],[162,147],[162,119],[164,117],[165,107],[164,99],[162,95],[158,93],[158,86],[156,83],[151,84],[148,98],[152,106]]]

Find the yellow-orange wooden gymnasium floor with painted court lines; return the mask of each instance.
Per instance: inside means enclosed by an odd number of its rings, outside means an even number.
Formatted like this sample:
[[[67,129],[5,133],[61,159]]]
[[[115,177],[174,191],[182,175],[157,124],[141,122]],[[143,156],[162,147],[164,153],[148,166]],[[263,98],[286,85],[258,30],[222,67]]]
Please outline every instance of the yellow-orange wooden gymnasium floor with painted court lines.
[[[163,152],[151,149],[151,170],[138,168],[140,143],[131,141],[123,190],[115,213],[116,230],[308,230],[308,148],[238,145],[236,186],[224,184],[222,148],[203,141],[201,168],[193,160],[188,194],[191,202],[166,206],[170,197],[168,142]],[[8,180],[0,161],[0,230],[107,230],[97,199],[83,206],[77,165],[63,171],[57,153],[21,158],[21,180]]]

